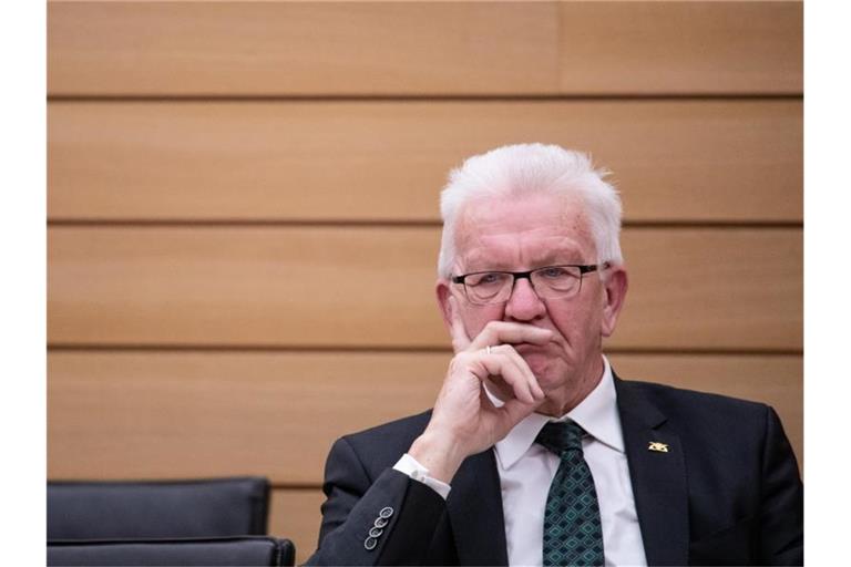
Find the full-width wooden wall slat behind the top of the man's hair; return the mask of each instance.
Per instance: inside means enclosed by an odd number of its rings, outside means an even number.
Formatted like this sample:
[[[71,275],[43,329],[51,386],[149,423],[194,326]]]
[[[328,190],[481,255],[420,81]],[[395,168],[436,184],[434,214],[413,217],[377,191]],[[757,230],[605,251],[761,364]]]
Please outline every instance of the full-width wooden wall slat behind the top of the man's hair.
[[[540,141],[614,172],[627,220],[801,221],[802,103],[48,106],[51,218],[438,220],[464,156]]]

